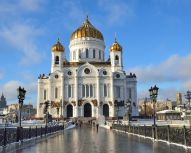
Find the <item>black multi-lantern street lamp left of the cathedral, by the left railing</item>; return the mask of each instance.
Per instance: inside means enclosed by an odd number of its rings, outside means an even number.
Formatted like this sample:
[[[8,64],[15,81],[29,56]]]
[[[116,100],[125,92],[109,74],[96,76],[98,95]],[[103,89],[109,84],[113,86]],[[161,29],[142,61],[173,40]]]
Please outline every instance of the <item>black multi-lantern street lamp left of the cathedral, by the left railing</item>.
[[[21,109],[23,107],[23,101],[25,99],[26,90],[24,88],[17,88],[17,97],[18,97],[18,103],[19,103],[19,127],[21,127]]]

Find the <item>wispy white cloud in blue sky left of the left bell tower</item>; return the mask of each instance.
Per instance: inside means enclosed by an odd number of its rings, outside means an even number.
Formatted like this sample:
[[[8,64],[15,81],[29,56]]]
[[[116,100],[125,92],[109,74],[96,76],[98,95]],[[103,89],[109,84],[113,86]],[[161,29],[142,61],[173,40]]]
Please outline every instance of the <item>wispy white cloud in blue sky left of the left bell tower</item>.
[[[23,54],[20,64],[37,64],[41,61],[42,51],[38,51],[34,39],[43,33],[42,29],[28,24],[12,24],[1,28],[0,32],[0,37]]]

